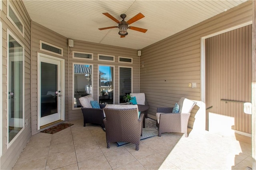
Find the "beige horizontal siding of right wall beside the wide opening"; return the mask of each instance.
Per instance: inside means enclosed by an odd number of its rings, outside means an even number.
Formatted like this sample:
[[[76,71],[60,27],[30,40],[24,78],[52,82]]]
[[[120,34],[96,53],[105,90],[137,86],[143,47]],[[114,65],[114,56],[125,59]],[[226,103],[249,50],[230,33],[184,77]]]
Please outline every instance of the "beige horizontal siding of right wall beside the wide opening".
[[[150,105],[148,114],[154,117],[157,107],[173,107],[181,97],[200,103],[200,38],[251,20],[252,2],[248,1],[142,49],[140,91]],[[189,88],[191,82],[197,88]]]

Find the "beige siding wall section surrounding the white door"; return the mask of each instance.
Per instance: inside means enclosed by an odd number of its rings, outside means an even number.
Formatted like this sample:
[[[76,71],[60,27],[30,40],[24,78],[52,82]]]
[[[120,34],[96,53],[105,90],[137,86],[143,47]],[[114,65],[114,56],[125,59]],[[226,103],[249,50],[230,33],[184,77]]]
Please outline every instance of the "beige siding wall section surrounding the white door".
[[[60,57],[58,55],[54,55],[52,53],[48,53],[45,51],[40,51],[40,40],[50,43],[52,45],[56,45],[58,47],[63,48],[63,57]],[[68,80],[67,80],[67,72],[68,72],[68,40],[66,37],[55,33],[54,31],[51,31],[50,29],[43,27],[42,25],[32,22],[32,54],[31,54],[31,88],[32,88],[32,135],[38,133],[37,130],[37,122],[38,122],[38,75],[37,75],[37,54],[43,53],[46,55],[50,55],[53,57],[58,57],[65,60],[65,92],[64,94],[67,94],[68,91]],[[65,95],[65,120],[68,120],[68,96]]]

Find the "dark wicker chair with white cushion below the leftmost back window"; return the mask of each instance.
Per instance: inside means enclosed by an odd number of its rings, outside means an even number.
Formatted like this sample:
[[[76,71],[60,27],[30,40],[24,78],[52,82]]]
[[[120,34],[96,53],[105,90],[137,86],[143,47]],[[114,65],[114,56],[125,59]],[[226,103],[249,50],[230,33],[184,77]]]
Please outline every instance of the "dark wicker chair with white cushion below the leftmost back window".
[[[84,126],[86,126],[86,123],[96,123],[104,127],[103,119],[105,116],[103,108],[106,106],[106,104],[99,104],[100,109],[92,108],[90,104],[90,101],[92,100],[93,98],[91,95],[79,98],[82,105],[82,113],[84,115]]]

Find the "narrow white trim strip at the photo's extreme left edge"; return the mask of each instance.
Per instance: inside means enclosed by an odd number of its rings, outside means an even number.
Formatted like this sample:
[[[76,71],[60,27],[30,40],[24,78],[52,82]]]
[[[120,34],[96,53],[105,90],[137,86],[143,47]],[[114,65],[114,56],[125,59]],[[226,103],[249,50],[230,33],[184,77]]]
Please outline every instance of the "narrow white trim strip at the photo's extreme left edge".
[[[2,10],[2,1],[0,2],[0,8],[1,8],[1,10]],[[2,56],[2,48],[3,48],[3,46],[2,46],[2,22],[0,22],[0,48],[1,48],[1,50],[0,50],[0,56]],[[0,59],[0,80],[1,80],[1,82],[2,82],[2,57],[1,57],[1,59]],[[3,92],[3,89],[2,89],[2,83],[0,83],[0,93],[1,94],[3,94],[2,93]],[[0,95],[0,108],[3,108],[2,107],[2,95]],[[3,113],[2,113],[2,110],[3,109],[0,109],[0,124],[2,125],[3,124],[3,118],[2,118],[2,115],[3,115]],[[2,156],[2,140],[3,140],[3,138],[2,138],[2,134],[3,134],[3,129],[2,129],[2,126],[0,126],[0,156]]]

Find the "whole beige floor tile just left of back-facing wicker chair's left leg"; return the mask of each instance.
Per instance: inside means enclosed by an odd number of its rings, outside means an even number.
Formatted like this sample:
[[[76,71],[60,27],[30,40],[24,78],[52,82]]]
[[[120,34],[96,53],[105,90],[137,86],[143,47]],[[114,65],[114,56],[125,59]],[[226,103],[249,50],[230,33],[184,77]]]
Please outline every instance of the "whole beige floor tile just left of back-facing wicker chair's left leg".
[[[103,153],[98,145],[92,145],[90,147],[76,149],[77,162],[81,162],[82,160],[86,160],[100,155],[103,155]]]

